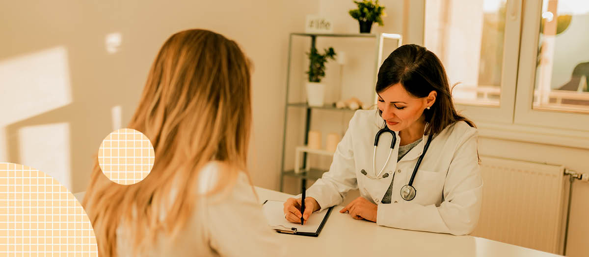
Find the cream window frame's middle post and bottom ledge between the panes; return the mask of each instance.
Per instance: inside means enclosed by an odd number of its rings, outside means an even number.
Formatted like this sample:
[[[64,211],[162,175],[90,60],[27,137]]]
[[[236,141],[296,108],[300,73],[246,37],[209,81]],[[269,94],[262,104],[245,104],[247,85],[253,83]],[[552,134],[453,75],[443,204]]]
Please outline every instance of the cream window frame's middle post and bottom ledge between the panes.
[[[456,109],[481,137],[589,149],[589,114],[532,109],[541,10],[542,1],[507,0],[499,106]]]

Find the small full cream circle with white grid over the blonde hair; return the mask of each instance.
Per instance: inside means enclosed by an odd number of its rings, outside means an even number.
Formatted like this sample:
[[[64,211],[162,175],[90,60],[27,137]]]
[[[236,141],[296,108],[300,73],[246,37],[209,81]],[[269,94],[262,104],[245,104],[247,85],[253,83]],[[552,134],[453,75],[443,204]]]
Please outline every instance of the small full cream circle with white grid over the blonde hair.
[[[98,150],[102,173],[121,185],[135,184],[147,177],[154,160],[151,141],[134,129],[120,129],[108,134]]]

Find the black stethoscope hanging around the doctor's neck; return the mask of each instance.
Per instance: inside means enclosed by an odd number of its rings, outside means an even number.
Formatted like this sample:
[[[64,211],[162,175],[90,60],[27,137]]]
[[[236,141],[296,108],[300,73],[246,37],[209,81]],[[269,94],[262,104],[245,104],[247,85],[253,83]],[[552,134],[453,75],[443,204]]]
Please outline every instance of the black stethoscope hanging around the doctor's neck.
[[[380,135],[382,135],[383,133],[387,133],[387,132],[391,133],[391,135],[393,135],[393,141],[391,142],[391,150],[389,151],[389,157],[386,158],[385,165],[382,166],[382,169],[380,169],[378,175],[376,175],[376,146],[378,146],[378,139],[380,138]],[[366,173],[365,170],[361,170],[360,173],[366,175],[366,177],[373,179],[373,180],[380,180],[382,178],[389,177],[388,173],[385,173],[384,175],[382,175],[382,177],[380,177],[380,174],[382,174],[382,172],[385,170],[386,164],[388,164],[389,160],[391,160],[391,155],[393,153],[393,148],[395,148],[396,141],[397,141],[397,137],[395,135],[395,132],[390,130],[386,125],[383,129],[379,130],[376,133],[376,137],[374,138],[374,151],[372,153],[372,173],[374,174],[374,176],[368,175],[368,173]],[[415,190],[415,187],[413,187],[413,180],[415,179],[415,175],[417,174],[417,170],[419,169],[419,165],[421,164],[421,161],[423,160],[423,156],[425,156],[425,152],[428,151],[429,143],[431,143],[431,141],[432,141],[432,134],[429,134],[428,141],[425,143],[425,147],[423,148],[423,153],[421,154],[421,156],[419,156],[419,159],[417,160],[417,163],[415,164],[415,168],[413,168],[413,174],[411,174],[411,180],[409,180],[409,184],[404,185],[401,188],[401,197],[403,199],[405,199],[405,201],[411,201],[413,198],[415,198],[416,190]]]

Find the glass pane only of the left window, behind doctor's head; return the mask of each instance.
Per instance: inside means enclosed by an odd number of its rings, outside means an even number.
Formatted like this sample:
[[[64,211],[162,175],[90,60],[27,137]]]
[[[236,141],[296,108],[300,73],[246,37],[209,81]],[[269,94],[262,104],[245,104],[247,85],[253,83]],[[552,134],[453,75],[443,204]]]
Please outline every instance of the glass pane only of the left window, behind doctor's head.
[[[457,103],[499,106],[506,9],[506,0],[427,2],[425,47],[459,83]]]

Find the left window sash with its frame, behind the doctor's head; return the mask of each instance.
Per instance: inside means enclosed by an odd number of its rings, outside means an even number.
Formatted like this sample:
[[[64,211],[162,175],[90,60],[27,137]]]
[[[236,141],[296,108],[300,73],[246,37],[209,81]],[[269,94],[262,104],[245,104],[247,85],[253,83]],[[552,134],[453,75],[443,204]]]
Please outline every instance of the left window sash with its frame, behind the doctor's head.
[[[477,120],[512,123],[521,0],[428,0],[424,45],[444,63],[455,103]]]

